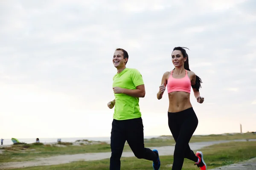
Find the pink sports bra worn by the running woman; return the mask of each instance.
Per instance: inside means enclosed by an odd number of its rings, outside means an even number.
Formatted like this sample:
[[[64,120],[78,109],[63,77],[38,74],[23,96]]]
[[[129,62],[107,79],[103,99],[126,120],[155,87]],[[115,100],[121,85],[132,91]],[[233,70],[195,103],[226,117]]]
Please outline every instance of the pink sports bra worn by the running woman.
[[[186,76],[180,79],[173,78],[171,73],[167,81],[168,93],[171,93],[173,91],[184,91],[190,94],[190,90],[191,90],[191,81],[187,76],[187,70],[186,70]]]

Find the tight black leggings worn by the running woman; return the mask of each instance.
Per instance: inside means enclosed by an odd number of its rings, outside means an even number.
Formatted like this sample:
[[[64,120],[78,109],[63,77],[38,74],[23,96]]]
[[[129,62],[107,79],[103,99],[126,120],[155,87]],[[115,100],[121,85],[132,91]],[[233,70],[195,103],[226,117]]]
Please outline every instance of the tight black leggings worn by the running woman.
[[[197,162],[198,157],[189,147],[189,141],[198,125],[193,108],[176,113],[168,112],[168,125],[176,142],[172,170],[181,170],[184,158]]]

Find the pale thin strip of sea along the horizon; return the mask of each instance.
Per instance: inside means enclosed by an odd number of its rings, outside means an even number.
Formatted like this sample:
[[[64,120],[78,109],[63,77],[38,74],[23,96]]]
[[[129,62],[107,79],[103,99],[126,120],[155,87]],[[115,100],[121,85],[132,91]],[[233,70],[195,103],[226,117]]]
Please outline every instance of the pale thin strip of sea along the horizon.
[[[156,138],[159,136],[144,136],[144,139],[150,139],[150,138]],[[19,139],[19,142],[24,142],[24,143],[35,143],[35,139]],[[54,142],[58,142],[57,140],[61,139],[61,142],[76,142],[76,140],[83,140],[83,139],[87,139],[89,141],[102,141],[102,142],[110,142],[110,136],[109,137],[80,137],[80,138],[39,138],[39,141],[41,143],[54,143]],[[3,145],[9,145],[9,144],[13,144],[11,139],[4,139],[3,140]]]

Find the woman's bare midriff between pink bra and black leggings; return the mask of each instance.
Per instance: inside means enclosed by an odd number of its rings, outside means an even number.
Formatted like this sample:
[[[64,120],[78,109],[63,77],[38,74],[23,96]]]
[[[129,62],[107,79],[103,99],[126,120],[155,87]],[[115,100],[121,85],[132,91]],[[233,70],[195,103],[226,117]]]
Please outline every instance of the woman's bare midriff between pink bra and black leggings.
[[[168,112],[180,112],[191,108],[190,94],[184,91],[173,91],[168,94],[169,96],[169,109]]]

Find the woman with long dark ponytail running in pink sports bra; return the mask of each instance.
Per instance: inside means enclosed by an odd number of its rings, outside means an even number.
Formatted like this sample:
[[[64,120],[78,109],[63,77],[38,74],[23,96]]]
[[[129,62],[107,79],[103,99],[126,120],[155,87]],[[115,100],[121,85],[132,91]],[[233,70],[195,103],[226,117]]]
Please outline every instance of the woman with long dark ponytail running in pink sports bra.
[[[157,99],[162,99],[166,90],[169,96],[168,125],[175,139],[175,151],[172,170],[181,170],[184,158],[206,170],[203,153],[190,150],[189,141],[198,125],[198,118],[190,103],[190,89],[193,88],[198,103],[204,102],[200,96],[201,79],[189,70],[189,58],[186,50],[175,47],[172,51],[172,63],[175,68],[163,74]]]

